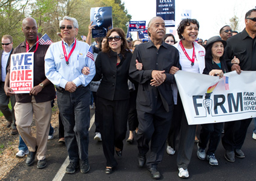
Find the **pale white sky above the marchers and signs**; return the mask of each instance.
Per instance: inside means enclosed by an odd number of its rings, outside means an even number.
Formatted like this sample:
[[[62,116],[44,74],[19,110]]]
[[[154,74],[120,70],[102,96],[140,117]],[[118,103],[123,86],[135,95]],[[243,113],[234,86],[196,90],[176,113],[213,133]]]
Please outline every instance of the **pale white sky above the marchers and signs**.
[[[122,0],[125,8],[131,14],[131,21],[146,21],[156,16],[156,1],[159,0]],[[245,28],[245,14],[256,7],[255,0],[176,0],[176,27],[181,21],[183,10],[191,10],[191,18],[199,21],[200,39],[209,39],[219,35],[220,28],[229,25],[231,17],[237,16],[239,21],[238,31]],[[169,28],[166,33],[169,32]],[[137,39],[137,34],[132,34],[133,39]],[[179,36],[177,36],[179,39]]]

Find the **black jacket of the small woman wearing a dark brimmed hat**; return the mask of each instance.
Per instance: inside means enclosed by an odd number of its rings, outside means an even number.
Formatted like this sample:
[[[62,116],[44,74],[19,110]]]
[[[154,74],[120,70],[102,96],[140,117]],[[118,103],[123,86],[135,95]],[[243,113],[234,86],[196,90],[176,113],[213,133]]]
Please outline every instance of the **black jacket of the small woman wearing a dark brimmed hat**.
[[[220,66],[222,68],[220,68],[217,63],[215,63],[213,60],[211,59],[205,59],[205,69],[203,69],[203,74],[209,75],[209,72],[211,72],[213,69],[222,69],[223,73],[227,73],[228,71],[228,66],[226,65],[226,61],[225,60],[220,60]]]

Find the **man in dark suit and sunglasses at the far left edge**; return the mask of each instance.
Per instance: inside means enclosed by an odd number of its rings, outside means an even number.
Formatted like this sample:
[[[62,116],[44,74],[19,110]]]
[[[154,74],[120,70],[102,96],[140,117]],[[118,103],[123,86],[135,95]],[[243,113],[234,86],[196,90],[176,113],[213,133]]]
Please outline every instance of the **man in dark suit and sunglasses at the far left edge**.
[[[4,35],[2,37],[2,50],[0,51],[0,110],[7,119],[7,127],[11,126],[11,135],[16,135],[18,130],[16,129],[15,113],[13,107],[15,106],[15,97],[8,97],[4,92],[4,81],[7,73],[7,66],[10,63],[10,56],[13,52],[13,38],[10,35]],[[8,107],[9,100],[11,100],[10,110]]]

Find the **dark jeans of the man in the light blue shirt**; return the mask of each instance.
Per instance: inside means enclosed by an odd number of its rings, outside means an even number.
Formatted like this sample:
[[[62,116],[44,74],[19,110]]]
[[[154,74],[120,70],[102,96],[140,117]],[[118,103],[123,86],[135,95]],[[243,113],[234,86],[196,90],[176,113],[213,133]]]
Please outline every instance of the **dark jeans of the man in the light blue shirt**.
[[[71,162],[88,159],[90,86],[70,93],[57,91],[57,104],[65,130],[65,145]]]

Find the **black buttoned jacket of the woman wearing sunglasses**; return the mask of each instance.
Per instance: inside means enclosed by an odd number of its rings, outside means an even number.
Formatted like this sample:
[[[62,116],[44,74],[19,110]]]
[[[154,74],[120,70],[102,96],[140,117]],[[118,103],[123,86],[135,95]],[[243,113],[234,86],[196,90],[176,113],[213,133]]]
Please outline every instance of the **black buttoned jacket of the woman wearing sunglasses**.
[[[128,90],[128,74],[131,62],[131,52],[126,52],[125,56],[117,64],[117,53],[110,51],[99,52],[95,65],[96,74],[93,81],[100,81],[96,95],[107,100],[126,100],[130,98]]]

